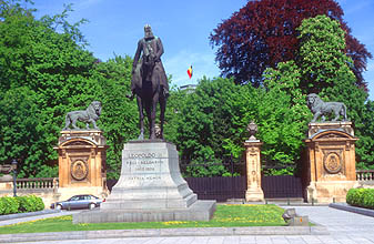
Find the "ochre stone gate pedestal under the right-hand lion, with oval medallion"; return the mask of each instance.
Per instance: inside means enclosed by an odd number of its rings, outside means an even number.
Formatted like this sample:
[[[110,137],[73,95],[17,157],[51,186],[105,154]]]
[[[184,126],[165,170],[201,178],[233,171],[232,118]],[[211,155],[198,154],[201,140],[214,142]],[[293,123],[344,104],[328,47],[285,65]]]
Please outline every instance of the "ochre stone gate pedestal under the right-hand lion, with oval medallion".
[[[352,122],[309,124],[307,202],[345,202],[346,192],[357,185],[355,141]]]

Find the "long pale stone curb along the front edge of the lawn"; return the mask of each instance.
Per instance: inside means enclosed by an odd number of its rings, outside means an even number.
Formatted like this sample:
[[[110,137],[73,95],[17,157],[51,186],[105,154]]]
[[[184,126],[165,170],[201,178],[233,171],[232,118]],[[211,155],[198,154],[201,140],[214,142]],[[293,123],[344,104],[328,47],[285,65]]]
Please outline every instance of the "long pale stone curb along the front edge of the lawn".
[[[0,243],[42,242],[62,240],[94,240],[160,236],[235,236],[235,235],[328,235],[324,226],[254,226],[201,228],[138,228],[77,232],[47,232],[0,235]]]

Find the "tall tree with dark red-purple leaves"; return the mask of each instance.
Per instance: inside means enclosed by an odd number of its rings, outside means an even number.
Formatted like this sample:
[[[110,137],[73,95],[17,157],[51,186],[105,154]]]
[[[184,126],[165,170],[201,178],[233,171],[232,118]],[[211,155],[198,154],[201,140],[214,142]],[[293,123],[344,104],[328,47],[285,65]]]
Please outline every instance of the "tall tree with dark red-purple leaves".
[[[352,70],[361,87],[365,87],[362,72],[372,54],[352,37],[343,22],[343,10],[334,0],[261,0],[249,1],[213,30],[212,45],[219,47],[216,61],[226,77],[235,77],[235,82],[262,82],[266,68],[276,68],[279,62],[296,57],[299,40],[296,28],[303,19],[325,14],[338,20],[346,31],[345,52],[354,60]]]

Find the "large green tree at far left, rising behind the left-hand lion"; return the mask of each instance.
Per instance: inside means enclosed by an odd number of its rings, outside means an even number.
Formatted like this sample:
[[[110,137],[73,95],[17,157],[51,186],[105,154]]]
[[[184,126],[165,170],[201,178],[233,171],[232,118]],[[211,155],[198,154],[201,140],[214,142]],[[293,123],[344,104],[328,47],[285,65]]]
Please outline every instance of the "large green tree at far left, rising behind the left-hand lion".
[[[100,93],[100,87],[91,79],[95,59],[83,48],[79,23],[67,21],[69,7],[61,14],[37,20],[33,11],[19,2],[0,2],[0,100],[7,104],[9,95],[18,92],[17,101],[22,100],[21,95],[28,99],[9,104],[14,112],[8,110],[0,114],[1,121],[4,116],[24,120],[21,124],[10,123],[8,131],[1,131],[0,161],[21,159],[21,175],[36,176],[41,170],[38,165],[51,165],[57,160],[53,145],[57,145],[64,114],[85,109]],[[24,102],[32,104],[27,106]],[[26,118],[33,118],[32,123]],[[30,128],[30,123],[36,133],[21,130]],[[22,135],[23,150],[19,150],[19,133],[30,135]],[[30,142],[33,143],[28,146]]]

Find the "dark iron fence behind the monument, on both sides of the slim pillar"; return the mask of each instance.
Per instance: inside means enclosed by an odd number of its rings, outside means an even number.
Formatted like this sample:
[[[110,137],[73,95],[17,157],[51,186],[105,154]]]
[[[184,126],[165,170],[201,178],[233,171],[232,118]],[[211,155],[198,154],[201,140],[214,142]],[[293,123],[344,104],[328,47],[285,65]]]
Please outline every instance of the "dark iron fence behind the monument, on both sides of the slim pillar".
[[[218,166],[226,171],[226,176],[191,177],[192,172],[205,172]],[[232,160],[218,163],[181,163],[181,173],[190,189],[198,194],[200,200],[216,200],[226,202],[231,199],[245,199],[246,171],[245,162]],[[115,180],[108,180],[111,190]],[[303,197],[302,181],[292,175],[266,176],[262,175],[261,184],[265,199]]]

